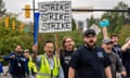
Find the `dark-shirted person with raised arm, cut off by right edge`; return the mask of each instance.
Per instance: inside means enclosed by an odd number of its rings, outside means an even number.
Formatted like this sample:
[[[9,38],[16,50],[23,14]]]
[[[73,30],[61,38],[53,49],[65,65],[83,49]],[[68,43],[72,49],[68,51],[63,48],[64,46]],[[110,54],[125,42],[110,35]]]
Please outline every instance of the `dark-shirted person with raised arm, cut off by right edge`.
[[[127,77],[130,78],[130,37],[126,39],[126,43],[121,48],[122,63],[127,70]]]

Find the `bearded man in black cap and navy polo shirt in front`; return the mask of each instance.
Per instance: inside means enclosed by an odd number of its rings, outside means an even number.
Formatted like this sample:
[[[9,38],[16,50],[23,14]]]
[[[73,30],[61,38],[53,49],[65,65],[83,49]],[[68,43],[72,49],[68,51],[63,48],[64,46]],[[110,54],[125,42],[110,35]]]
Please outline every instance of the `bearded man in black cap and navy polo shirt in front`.
[[[110,61],[104,50],[96,47],[95,30],[87,29],[84,46],[80,47],[70,61],[68,78],[112,78]]]

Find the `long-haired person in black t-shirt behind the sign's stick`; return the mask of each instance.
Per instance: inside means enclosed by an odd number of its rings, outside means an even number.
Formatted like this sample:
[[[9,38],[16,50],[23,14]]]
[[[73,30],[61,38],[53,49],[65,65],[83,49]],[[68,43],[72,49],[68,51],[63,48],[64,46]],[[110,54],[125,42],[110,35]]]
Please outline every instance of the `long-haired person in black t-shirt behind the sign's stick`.
[[[68,36],[64,37],[62,41],[62,49],[60,51],[60,57],[65,78],[68,78],[69,61],[72,60],[74,49],[75,49],[74,40]]]

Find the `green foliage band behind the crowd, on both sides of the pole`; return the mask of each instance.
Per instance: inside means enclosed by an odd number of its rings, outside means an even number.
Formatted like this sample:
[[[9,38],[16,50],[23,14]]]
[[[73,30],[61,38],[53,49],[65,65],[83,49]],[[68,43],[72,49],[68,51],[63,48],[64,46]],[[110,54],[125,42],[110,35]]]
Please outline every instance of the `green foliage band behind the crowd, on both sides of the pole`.
[[[0,54],[5,55],[9,54],[11,51],[14,51],[16,44],[21,44],[23,49],[30,49],[34,44],[34,34],[32,31],[29,32],[21,32],[20,25],[23,24],[22,22],[17,21],[15,14],[8,13],[10,16],[10,27],[9,30],[5,29],[4,26],[4,17],[1,20],[0,24]],[[15,20],[16,22],[16,29],[12,29],[12,21]],[[46,40],[52,40],[55,42],[55,35],[58,35],[58,43],[61,47],[61,42],[64,36],[72,36],[73,39],[76,41],[76,46],[79,47],[82,44],[82,32],[76,29],[75,20],[72,20],[73,30],[65,31],[65,32],[50,32],[50,34],[38,34],[38,46],[39,51],[38,53],[43,52],[43,42]],[[30,26],[32,27],[32,26]],[[32,28],[31,28],[32,29]]]

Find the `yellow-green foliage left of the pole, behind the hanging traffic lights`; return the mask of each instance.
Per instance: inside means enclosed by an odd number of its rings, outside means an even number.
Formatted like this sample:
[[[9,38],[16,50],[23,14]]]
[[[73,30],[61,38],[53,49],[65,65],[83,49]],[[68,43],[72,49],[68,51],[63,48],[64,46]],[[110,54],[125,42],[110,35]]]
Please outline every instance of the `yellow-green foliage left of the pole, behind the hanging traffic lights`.
[[[16,29],[12,29],[12,21],[16,21]],[[10,27],[6,30],[4,26],[4,17],[1,20],[0,24],[0,54],[4,55],[14,50],[16,44],[22,44],[23,49],[31,49],[32,46],[32,35],[29,32],[21,32],[20,24],[22,22],[17,21],[16,17],[10,17]]]

